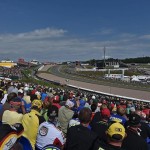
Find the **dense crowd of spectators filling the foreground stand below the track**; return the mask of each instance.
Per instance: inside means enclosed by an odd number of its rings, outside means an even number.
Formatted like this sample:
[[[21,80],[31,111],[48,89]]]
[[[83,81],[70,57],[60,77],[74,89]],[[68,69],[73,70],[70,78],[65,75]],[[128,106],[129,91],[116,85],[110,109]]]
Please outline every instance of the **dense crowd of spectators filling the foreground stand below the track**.
[[[2,150],[149,150],[150,103],[0,82]]]

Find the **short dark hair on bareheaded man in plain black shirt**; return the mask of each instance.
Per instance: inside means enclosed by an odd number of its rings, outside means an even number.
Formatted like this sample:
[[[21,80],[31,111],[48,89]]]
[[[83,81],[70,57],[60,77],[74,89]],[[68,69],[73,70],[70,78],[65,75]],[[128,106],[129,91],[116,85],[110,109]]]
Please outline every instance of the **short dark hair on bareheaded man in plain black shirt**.
[[[79,120],[81,123],[89,123],[91,121],[91,116],[92,111],[89,108],[84,107],[80,110]]]

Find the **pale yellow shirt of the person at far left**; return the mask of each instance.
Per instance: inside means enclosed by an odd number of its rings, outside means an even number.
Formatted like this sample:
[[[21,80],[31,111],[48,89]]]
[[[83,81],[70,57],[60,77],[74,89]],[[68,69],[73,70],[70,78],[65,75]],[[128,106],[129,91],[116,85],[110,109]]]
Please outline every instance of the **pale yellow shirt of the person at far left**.
[[[15,111],[5,110],[2,116],[2,122],[14,125],[15,123],[22,123],[23,114]]]

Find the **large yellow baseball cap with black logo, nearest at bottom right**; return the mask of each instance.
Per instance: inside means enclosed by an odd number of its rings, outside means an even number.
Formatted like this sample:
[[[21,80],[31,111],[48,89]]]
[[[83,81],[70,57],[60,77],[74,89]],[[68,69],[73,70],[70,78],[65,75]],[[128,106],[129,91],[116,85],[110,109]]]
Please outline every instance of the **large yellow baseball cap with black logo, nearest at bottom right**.
[[[111,124],[106,132],[111,138],[114,138],[116,140],[121,140],[126,135],[124,126],[118,122]],[[120,137],[117,135],[120,135]]]

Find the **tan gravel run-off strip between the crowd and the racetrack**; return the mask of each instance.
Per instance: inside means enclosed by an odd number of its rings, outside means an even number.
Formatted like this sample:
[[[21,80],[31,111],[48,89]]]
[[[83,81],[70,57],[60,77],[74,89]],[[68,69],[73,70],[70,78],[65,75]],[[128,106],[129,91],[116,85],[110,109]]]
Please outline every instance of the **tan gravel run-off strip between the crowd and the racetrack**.
[[[41,71],[47,71],[47,69],[49,68],[50,66],[45,66]],[[77,87],[82,87],[82,88],[86,88],[86,89],[90,89],[94,91],[150,101],[150,92],[147,92],[147,91],[98,85],[98,84],[86,83],[86,82],[70,80],[70,79],[69,79],[69,82],[66,82],[66,78],[58,77],[56,75],[52,75],[48,73],[39,73],[38,76],[43,79],[47,79],[51,81],[58,81],[61,84],[69,84],[69,85],[74,85]]]

